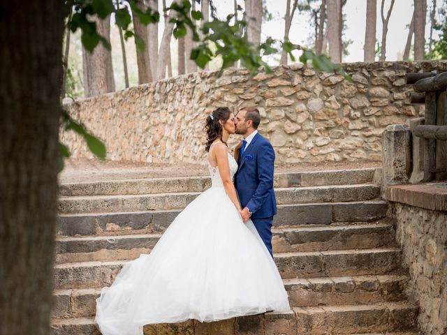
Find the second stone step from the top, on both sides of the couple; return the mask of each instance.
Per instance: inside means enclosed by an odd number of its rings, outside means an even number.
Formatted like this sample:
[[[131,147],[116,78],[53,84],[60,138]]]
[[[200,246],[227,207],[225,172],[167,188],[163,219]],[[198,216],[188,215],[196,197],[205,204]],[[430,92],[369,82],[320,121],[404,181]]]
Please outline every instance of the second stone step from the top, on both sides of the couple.
[[[277,188],[277,204],[350,202],[376,199],[380,187],[373,184]],[[101,211],[148,211],[183,209],[201,193],[158,193],[145,195],[87,195],[59,198],[59,213]]]

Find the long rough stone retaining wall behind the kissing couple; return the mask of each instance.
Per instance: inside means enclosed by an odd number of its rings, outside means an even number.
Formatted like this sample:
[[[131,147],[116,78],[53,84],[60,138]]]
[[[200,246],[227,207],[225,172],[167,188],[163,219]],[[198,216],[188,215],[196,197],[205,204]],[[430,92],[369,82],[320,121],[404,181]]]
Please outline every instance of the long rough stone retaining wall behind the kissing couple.
[[[344,64],[352,75],[316,73],[302,65],[279,66],[250,77],[247,70],[191,73],[67,105],[72,117],[98,135],[108,159],[154,163],[203,161],[205,118],[217,106],[256,105],[260,131],[277,162],[381,160],[381,133],[423,115],[409,104],[405,74],[446,69],[447,62]],[[73,157],[91,158],[72,133],[62,142]],[[229,145],[237,143],[233,136]]]

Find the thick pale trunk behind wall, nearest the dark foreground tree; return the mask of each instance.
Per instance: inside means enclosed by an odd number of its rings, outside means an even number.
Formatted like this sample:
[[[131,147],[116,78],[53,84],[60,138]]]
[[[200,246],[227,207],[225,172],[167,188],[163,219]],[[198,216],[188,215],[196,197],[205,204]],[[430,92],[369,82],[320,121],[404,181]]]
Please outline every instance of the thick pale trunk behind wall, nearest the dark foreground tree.
[[[104,20],[90,16],[89,20],[96,22],[98,34],[110,41],[110,15]],[[82,47],[82,60],[86,98],[115,91],[110,50],[107,50],[101,43],[98,43],[92,53]]]

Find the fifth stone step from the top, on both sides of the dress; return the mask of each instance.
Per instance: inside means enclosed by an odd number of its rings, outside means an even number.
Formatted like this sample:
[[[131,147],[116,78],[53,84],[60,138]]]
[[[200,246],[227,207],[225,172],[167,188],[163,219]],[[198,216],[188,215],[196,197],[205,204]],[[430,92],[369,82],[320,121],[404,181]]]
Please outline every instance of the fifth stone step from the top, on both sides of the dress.
[[[400,259],[397,248],[274,254],[282,278],[393,274],[401,269]],[[55,265],[55,288],[102,288],[112,283],[126,262]]]

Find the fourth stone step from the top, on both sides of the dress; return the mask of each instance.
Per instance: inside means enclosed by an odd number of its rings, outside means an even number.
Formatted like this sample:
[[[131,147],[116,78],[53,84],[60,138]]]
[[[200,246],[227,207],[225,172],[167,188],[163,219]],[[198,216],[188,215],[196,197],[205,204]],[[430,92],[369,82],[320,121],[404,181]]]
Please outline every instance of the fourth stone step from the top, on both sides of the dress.
[[[275,253],[396,246],[390,220],[356,225],[274,228],[272,234]],[[57,238],[56,262],[133,260],[141,253],[149,253],[160,237],[161,234],[130,234]]]

